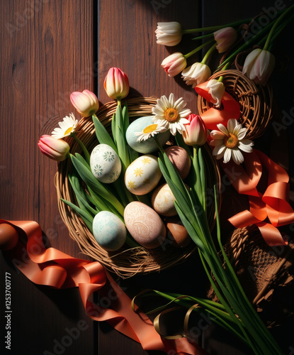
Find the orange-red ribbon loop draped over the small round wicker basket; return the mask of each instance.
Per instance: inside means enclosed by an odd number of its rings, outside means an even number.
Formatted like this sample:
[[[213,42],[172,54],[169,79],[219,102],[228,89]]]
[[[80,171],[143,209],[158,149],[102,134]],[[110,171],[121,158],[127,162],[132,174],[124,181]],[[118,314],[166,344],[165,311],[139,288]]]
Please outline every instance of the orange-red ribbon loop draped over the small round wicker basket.
[[[195,90],[206,101],[214,104],[215,100],[208,92],[209,89],[206,87],[207,83],[208,82],[203,82],[198,85]],[[227,126],[227,121],[229,121],[229,119],[239,119],[240,105],[230,94],[225,92],[221,102],[223,109],[210,107],[210,109],[201,114],[201,119],[205,122],[207,129],[217,129],[217,124]]]

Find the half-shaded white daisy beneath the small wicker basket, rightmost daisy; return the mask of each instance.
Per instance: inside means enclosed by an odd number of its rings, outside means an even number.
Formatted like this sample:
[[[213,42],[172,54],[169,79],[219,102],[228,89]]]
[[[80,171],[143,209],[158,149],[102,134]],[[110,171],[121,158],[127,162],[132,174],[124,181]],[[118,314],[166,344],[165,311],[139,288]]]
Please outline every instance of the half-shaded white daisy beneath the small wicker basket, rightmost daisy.
[[[216,155],[217,159],[224,158],[224,163],[234,160],[234,163],[241,164],[244,161],[243,154],[251,153],[253,141],[244,139],[247,129],[242,129],[242,124],[238,124],[237,119],[229,119],[227,122],[227,128],[223,124],[217,124],[217,128],[220,131],[213,130],[210,133],[210,137],[213,141],[210,141],[211,146],[215,146],[213,149],[213,155]]]

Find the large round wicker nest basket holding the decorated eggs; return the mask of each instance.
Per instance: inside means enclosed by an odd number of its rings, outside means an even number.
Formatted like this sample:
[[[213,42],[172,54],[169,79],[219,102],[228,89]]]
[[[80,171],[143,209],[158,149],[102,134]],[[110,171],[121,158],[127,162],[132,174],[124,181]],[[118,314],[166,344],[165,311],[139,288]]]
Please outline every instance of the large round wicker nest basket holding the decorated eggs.
[[[130,121],[140,116],[148,116],[152,113],[152,106],[157,103],[156,98],[152,97],[137,97],[128,99],[128,111]],[[116,102],[109,102],[104,104],[98,111],[98,119],[106,126],[106,129],[111,129],[111,118],[115,113]],[[91,150],[98,144],[95,134],[95,128],[91,119],[81,119],[77,126],[77,137],[84,143],[86,148]],[[81,148],[73,140],[69,138],[69,145],[73,153],[81,153]],[[210,181],[208,187],[217,185],[220,187],[220,175],[217,168],[215,158],[210,152],[209,147],[205,147],[205,161],[207,169],[210,172]],[[76,199],[72,187],[69,183],[68,173],[72,168],[71,160],[67,159],[59,163],[58,170],[55,175],[55,185],[57,188],[58,206],[60,209],[61,217],[69,229],[69,235],[77,241],[81,252],[90,256],[96,261],[103,263],[109,270],[117,273],[120,277],[130,277],[137,273],[150,273],[154,271],[163,270],[174,266],[177,263],[185,261],[191,254],[196,251],[193,243],[185,248],[175,248],[169,243],[159,246],[156,249],[145,249],[142,246],[128,249],[126,246],[116,252],[108,252],[102,249],[96,243],[91,231],[86,227],[82,219],[71,208],[60,201],[60,198],[68,200],[76,204]],[[215,211],[210,206],[209,213],[210,225],[213,226],[215,221]]]

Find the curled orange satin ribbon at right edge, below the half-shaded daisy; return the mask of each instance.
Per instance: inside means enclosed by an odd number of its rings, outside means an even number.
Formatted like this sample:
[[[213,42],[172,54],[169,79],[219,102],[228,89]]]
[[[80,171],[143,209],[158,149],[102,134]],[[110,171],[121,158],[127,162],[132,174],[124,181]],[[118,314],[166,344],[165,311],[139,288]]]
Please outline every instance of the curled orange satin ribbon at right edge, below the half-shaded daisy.
[[[230,223],[236,228],[256,224],[268,245],[287,244],[277,227],[294,222],[294,211],[288,203],[288,173],[256,149],[244,153],[244,167],[232,161],[221,164],[235,190],[249,198],[249,210],[235,214],[229,219]],[[257,185],[264,169],[268,181],[265,192],[261,193]]]

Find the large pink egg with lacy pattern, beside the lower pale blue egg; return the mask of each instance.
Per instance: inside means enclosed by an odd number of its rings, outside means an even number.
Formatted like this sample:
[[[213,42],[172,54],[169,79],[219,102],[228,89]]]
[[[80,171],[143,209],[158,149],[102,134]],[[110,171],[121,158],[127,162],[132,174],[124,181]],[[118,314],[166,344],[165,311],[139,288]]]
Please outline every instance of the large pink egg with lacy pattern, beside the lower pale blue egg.
[[[142,202],[130,202],[125,207],[125,226],[132,238],[147,249],[160,246],[166,236],[166,228],[159,214]]]

